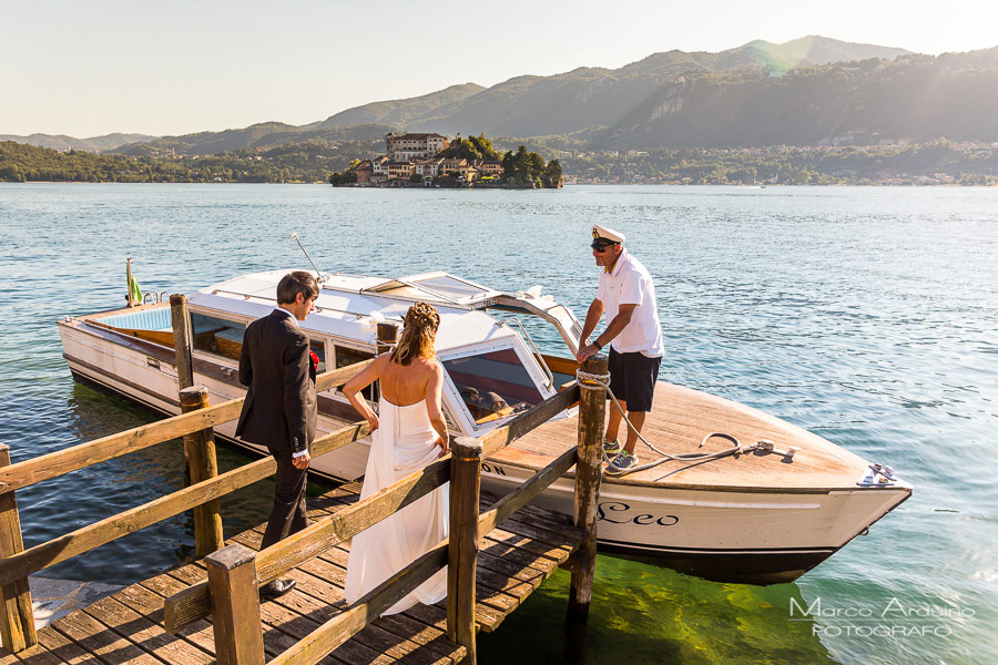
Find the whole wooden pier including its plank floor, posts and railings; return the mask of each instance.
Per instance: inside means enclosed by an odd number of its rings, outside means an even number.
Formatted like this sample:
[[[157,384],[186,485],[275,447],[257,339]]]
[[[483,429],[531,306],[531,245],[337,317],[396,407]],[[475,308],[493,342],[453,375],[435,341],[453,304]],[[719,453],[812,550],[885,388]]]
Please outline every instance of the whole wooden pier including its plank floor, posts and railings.
[[[10,463],[0,444],[0,637],[7,663],[310,665],[314,663],[461,663],[473,665],[476,634],[493,631],[559,565],[572,573],[568,614],[584,620],[595,569],[605,388],[574,381],[480,438],[456,437],[450,452],[359,500],[358,483],[310,502],[313,522],[259,550],[263,525],[223,540],[218,498],[272,475],[273,458],[218,473],[214,427],[238,417],[245,398],[210,406],[193,386],[190,327],[182,295],[171,296],[182,413],[165,420]],[[386,348],[391,336],[384,330]],[[378,327],[381,345],[383,326]],[[322,392],[370,362],[316,377]],[[590,375],[607,358],[587,360]],[[511,493],[481,493],[482,460],[579,405],[578,446]],[[368,434],[347,424],[312,443],[313,457]],[[17,490],[184,437],[191,484],[71,533],[24,549]],[[528,503],[574,468],[571,519]],[[428,552],[347,605],[343,583],[350,539],[449,483],[449,534]],[[133,584],[35,631],[28,576],[122,535],[192,510],[200,560]],[[569,556],[572,556],[570,560]],[[398,600],[447,567],[447,600],[381,617]],[[257,590],[292,576],[297,587],[261,603]]]

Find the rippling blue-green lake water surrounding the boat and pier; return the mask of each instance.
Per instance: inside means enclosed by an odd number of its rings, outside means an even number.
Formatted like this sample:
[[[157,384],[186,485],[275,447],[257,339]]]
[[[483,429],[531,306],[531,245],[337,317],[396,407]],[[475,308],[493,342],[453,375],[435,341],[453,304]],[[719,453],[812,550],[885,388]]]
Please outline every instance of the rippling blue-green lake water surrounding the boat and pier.
[[[14,461],[152,420],[75,385],[55,321],[144,290],[263,269],[447,270],[543,285],[580,318],[589,226],[655,278],[664,380],[739,400],[894,466],[914,497],[793,584],[717,584],[601,556],[584,635],[559,572],[481,663],[994,663],[998,658],[998,190],[0,185],[0,441]],[[556,348],[556,340],[543,340]],[[18,492],[30,546],[183,484],[180,443]],[[224,468],[245,463],[232,452]],[[273,484],[223,499],[226,534]],[[130,583],[193,550],[190,519],[43,571]],[[796,606],[796,607],[795,607]],[[801,620],[800,608],[818,616]]]

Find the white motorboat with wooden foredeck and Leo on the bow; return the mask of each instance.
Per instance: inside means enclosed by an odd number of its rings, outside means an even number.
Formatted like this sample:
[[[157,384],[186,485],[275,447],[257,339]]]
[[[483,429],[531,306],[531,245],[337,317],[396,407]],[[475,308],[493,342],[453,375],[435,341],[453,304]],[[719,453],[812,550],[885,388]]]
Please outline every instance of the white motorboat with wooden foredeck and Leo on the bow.
[[[207,387],[212,403],[245,395],[237,378],[243,332],[274,308],[277,282],[286,273],[238,276],[187,299],[194,381]],[[581,326],[539,287],[502,291],[446,273],[320,278],[316,310],[302,324],[320,372],[371,358],[377,325],[400,324],[413,303],[437,307],[437,355],[447,375],[444,410],[455,436],[481,437],[576,379]],[[59,330],[77,380],[161,413],[180,412],[169,303],[67,316]],[[542,352],[536,340],[546,348],[557,342],[564,352]],[[319,436],[359,419],[338,391],[320,393],[318,405]],[[576,446],[577,418],[577,408],[563,411],[487,459],[483,487],[508,491]],[[216,436],[263,452],[237,439],[235,424],[218,426]],[[707,437],[715,432],[721,436]],[[656,385],[643,433],[673,456],[722,451],[732,440],[763,442],[746,453],[670,459],[603,480],[601,551],[710,580],[795,580],[867,533],[913,491],[889,467],[872,464],[790,422],[666,382]],[[369,439],[356,441],[315,459],[310,471],[355,480],[364,473],[368,450]],[[643,448],[638,452],[642,462],[660,457]],[[571,514],[572,483],[570,475],[561,478],[536,501]]]

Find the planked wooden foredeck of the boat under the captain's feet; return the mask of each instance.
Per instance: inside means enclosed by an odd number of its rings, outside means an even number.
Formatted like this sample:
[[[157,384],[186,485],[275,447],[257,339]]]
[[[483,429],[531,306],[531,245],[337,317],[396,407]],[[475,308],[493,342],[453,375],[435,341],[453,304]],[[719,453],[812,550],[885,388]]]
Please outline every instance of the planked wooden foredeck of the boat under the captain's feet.
[[[607,403],[608,412],[615,409]],[[777,449],[797,447],[787,459],[781,454],[753,452],[706,462],[668,461],[611,482],[642,485],[704,487],[780,490],[852,488],[867,471],[863,458],[784,420],[720,397],[659,382],[655,400],[642,434],[670,454],[720,451],[732,447],[722,438],[697,448],[711,432],[731,434],[748,446],[768,439]],[[550,421],[501,450],[493,459],[508,464],[540,469],[576,446],[578,417]],[[625,424],[620,429],[621,441]],[[660,459],[641,441],[635,450],[639,464]]]

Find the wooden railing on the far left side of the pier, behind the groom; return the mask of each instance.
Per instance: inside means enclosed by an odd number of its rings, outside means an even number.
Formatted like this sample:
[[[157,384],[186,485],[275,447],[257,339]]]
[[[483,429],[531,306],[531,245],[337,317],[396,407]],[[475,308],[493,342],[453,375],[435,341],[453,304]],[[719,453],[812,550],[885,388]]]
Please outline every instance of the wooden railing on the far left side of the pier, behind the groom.
[[[318,391],[342,386],[359,374],[370,360],[350,365],[316,378]],[[161,522],[187,510],[207,508],[201,513],[201,529],[195,529],[195,545],[200,554],[222,546],[221,518],[217,500],[230,492],[273,475],[277,463],[266,457],[227,473],[217,474],[211,460],[197,457],[197,450],[213,441],[216,424],[238,418],[245,398],[207,406],[207,389],[196,386],[181,391],[181,401],[194,405],[195,410],[144,424],[124,432],[44,454],[16,464],[10,463],[7,446],[0,446],[0,636],[11,652],[37,644],[34,618],[28,575],[89,552],[140,529]],[[203,407],[202,407],[203,405]],[[201,408],[198,408],[201,407]],[[313,442],[312,454],[318,457],[363,439],[368,434],[367,422],[357,422],[326,434]],[[192,484],[160,497],[149,503],[123,511],[71,533],[24,550],[16,490],[58,478],[72,471],[112,460],[151,446],[184,437],[191,456]],[[213,450],[213,449],[212,449]],[[198,519],[195,516],[195,519]],[[196,525],[196,523],[195,523]]]

